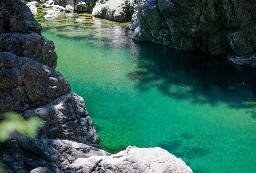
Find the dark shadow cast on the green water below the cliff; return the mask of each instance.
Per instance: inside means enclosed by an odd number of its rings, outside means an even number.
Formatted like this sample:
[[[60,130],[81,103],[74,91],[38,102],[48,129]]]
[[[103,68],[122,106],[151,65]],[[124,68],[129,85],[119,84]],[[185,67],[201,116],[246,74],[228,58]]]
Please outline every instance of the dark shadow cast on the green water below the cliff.
[[[256,106],[256,69],[235,65],[226,58],[137,44],[137,69],[128,77],[136,81],[138,90],[156,87],[166,96],[192,99],[196,104]]]

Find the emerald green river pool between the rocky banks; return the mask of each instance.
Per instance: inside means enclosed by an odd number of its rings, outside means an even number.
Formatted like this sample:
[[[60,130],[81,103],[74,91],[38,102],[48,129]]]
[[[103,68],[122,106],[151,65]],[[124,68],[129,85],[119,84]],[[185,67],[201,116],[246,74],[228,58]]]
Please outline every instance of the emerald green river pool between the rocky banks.
[[[162,147],[195,173],[256,172],[256,69],[132,41],[125,23],[37,20],[104,150]],[[76,21],[82,18],[82,22]]]

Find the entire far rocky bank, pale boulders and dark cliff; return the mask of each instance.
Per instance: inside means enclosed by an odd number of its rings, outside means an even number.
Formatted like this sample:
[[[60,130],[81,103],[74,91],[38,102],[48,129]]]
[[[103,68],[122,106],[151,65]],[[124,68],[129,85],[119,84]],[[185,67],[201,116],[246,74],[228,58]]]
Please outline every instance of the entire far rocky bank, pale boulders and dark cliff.
[[[256,67],[256,13],[252,0],[41,0],[56,11],[88,12],[113,21],[131,21],[133,39],[183,51],[227,57],[235,64]],[[55,5],[54,5],[55,4]],[[55,7],[54,7],[54,6]],[[35,11],[35,6],[30,6]]]

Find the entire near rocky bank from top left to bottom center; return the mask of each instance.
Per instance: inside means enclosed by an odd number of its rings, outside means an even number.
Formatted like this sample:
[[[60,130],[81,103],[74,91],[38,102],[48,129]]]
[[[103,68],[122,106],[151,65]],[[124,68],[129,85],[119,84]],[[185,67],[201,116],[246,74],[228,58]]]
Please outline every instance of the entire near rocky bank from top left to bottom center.
[[[163,172],[192,172],[160,148],[128,147],[116,155],[101,150],[84,99],[54,70],[54,44],[41,35],[29,7],[1,1],[0,23],[0,120],[12,111],[44,121],[36,139],[16,134],[0,144],[6,172],[157,172],[159,166]]]

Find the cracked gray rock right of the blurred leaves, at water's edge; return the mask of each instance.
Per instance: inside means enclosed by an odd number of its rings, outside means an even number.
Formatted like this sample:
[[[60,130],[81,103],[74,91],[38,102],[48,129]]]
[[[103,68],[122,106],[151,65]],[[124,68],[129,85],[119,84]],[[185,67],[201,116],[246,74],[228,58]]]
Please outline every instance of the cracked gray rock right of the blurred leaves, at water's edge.
[[[84,99],[73,93],[65,94],[47,105],[29,109],[23,117],[37,116],[44,120],[38,138],[61,138],[99,146],[91,118],[85,109]]]

